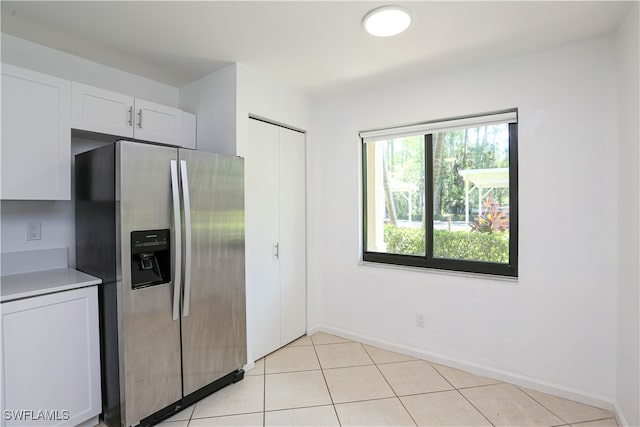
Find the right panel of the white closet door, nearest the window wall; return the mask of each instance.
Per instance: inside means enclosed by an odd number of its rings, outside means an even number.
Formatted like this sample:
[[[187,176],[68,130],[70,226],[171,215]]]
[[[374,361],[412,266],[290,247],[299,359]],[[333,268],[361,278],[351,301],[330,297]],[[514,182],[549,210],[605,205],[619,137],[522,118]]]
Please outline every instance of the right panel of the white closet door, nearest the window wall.
[[[304,335],[305,136],[280,128],[280,306],[281,344]]]

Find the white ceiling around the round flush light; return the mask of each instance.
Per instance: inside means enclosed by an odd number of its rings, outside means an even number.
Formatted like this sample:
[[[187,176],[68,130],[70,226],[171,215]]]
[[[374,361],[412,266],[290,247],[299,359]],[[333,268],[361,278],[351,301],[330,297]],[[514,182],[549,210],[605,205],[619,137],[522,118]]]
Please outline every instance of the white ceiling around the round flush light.
[[[369,1],[2,1],[2,32],[180,87],[240,62],[325,97],[615,30],[629,2],[399,1],[376,38]]]

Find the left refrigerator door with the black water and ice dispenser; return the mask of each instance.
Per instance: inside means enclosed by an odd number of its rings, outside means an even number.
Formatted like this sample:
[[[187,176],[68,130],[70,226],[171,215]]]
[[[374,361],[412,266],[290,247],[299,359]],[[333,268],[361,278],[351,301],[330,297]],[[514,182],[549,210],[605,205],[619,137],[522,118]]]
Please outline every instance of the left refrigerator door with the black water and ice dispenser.
[[[180,242],[181,230],[178,227],[176,234],[173,214],[176,206],[180,221],[180,200],[178,198],[174,204],[172,191],[175,189],[175,195],[179,197],[178,151],[129,141],[116,144],[116,220],[120,238],[117,274],[121,292],[118,304],[119,313],[122,313],[119,322],[122,328],[120,378],[124,379],[120,396],[123,424],[131,426],[182,397],[180,321],[173,318],[176,271],[180,278],[180,266],[176,265],[179,264],[176,255],[179,259],[180,248],[176,248],[176,242]],[[175,184],[172,184],[172,162]],[[142,251],[144,255],[141,256],[136,253],[136,242],[133,242],[132,250],[132,232],[144,230],[150,232],[143,233],[143,237],[152,243],[155,241],[155,246],[150,246],[153,250],[162,246],[157,240],[166,239],[166,235],[157,233],[156,236],[152,231],[170,230],[167,242],[170,256],[165,253],[160,257],[153,251]],[[142,244],[144,242],[137,247]],[[149,258],[154,254],[158,257]],[[132,268],[156,268],[156,264],[162,262],[170,264],[169,277],[164,274],[162,280],[132,289]],[[167,283],[155,283],[161,281]]]

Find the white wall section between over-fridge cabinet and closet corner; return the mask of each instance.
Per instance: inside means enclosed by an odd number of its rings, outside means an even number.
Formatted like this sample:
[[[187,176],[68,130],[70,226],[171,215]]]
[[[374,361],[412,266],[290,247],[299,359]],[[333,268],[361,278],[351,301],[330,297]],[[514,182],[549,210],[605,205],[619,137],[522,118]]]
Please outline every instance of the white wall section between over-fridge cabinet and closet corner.
[[[197,115],[198,150],[236,154],[236,74],[232,64],[180,88],[180,108]]]

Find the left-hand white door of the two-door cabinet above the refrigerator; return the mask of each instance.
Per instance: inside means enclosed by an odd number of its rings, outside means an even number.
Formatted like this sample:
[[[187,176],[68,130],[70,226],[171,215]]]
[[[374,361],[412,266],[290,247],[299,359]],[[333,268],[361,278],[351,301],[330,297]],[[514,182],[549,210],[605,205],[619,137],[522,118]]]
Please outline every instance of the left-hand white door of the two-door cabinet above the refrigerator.
[[[73,82],[71,127],[133,138],[133,97]]]

